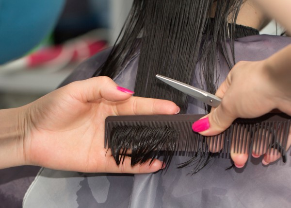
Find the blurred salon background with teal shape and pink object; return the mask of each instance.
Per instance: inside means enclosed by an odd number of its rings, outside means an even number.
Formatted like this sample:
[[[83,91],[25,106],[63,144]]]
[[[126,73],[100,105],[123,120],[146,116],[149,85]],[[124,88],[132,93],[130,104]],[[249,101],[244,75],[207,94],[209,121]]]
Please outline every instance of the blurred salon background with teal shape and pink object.
[[[131,3],[132,0],[2,0],[0,109],[21,106],[49,93],[81,61],[112,46]],[[34,28],[31,33],[30,28]],[[272,22],[260,33],[276,35],[282,30]],[[40,43],[29,48],[33,41]],[[29,53],[21,48],[30,49]]]

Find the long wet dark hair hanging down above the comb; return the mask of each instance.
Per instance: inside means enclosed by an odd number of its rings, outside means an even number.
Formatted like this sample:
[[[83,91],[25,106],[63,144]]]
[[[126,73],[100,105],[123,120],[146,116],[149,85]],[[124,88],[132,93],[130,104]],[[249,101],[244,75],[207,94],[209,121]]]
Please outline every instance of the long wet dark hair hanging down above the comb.
[[[114,78],[140,48],[135,95],[171,100],[184,113],[187,96],[155,75],[191,84],[199,74],[199,87],[215,93],[217,52],[229,68],[234,65],[234,25],[241,4],[242,0],[134,0],[107,61],[94,76]],[[211,12],[214,15],[209,18]],[[232,40],[230,51],[227,38]]]

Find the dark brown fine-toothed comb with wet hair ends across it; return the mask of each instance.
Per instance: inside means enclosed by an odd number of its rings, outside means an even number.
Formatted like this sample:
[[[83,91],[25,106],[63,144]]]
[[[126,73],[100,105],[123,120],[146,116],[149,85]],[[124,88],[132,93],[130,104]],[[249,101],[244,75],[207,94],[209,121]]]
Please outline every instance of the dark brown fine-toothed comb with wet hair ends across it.
[[[226,131],[211,137],[192,130],[193,122],[203,116],[110,116],[105,120],[105,148],[111,149],[117,165],[131,149],[131,165],[135,165],[153,160],[161,151],[169,162],[173,155],[210,153],[210,147],[223,157],[229,157],[231,149],[234,153],[257,155],[280,153],[286,162],[290,116],[270,113],[255,119],[237,119]]]

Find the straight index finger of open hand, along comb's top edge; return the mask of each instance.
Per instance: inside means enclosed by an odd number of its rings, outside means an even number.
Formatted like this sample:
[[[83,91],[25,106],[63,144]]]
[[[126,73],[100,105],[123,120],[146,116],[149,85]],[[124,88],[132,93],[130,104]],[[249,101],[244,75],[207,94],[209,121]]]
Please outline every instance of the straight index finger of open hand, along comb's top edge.
[[[117,105],[118,115],[162,115],[177,114],[180,108],[171,101],[131,97],[126,102]]]

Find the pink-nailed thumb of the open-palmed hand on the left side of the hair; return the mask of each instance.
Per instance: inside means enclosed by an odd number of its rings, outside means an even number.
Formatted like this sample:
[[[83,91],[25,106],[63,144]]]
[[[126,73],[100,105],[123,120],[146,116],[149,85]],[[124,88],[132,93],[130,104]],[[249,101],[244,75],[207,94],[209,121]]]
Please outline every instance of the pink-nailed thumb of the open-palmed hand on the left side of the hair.
[[[111,78],[106,76],[76,81],[63,87],[63,90],[84,103],[94,102],[101,98],[108,101],[124,101],[134,93],[117,86]]]

